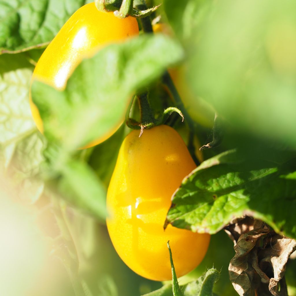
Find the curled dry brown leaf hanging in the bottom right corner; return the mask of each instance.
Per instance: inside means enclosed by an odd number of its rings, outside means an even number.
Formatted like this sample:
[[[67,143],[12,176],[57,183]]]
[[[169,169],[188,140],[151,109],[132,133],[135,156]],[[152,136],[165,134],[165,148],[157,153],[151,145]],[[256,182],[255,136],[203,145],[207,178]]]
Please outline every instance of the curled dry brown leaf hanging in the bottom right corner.
[[[233,222],[225,230],[235,244],[229,264],[234,289],[240,296],[287,295],[284,274],[296,241],[276,234],[260,220],[246,217]]]

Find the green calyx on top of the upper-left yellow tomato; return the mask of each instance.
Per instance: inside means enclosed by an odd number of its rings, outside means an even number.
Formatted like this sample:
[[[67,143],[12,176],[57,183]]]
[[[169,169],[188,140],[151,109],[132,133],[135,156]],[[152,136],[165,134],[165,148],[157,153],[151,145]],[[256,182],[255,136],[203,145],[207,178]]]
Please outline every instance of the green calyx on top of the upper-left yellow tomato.
[[[139,2],[143,8],[137,7],[136,3]],[[145,3],[141,0],[95,0],[96,8],[102,12],[113,12],[118,18],[126,18],[128,16],[143,18],[151,15],[156,11],[161,4],[151,8],[147,8]]]

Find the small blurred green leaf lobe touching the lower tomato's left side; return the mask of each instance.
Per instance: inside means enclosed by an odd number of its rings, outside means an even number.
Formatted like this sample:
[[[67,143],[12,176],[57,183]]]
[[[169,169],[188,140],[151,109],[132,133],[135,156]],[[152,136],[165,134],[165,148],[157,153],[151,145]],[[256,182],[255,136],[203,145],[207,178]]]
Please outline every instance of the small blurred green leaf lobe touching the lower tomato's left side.
[[[106,218],[106,191],[88,165],[69,160],[61,166],[62,176],[58,182],[62,197],[80,209],[84,209],[101,220]]]

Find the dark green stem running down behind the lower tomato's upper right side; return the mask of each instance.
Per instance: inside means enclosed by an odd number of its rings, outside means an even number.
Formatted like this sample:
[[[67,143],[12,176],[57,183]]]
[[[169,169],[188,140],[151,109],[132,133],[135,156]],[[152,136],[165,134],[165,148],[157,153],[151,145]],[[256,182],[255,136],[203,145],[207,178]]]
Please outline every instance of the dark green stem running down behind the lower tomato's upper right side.
[[[184,107],[181,97],[180,97],[180,95],[176,89],[176,86],[174,85],[172,78],[170,77],[170,74],[168,73],[168,71],[166,71],[163,74],[163,83],[168,87],[168,90],[170,91],[171,95],[173,96],[173,98],[176,102],[177,108],[180,108],[184,113],[185,122],[187,123],[188,128],[189,128],[189,140],[188,140],[187,148],[188,148],[190,155],[191,155],[192,159],[194,160],[195,164],[199,165],[200,162],[195,155],[195,147],[194,147],[194,143],[193,143],[194,134],[195,134],[195,124],[194,124],[193,120],[191,119],[189,113],[187,112],[186,108]]]

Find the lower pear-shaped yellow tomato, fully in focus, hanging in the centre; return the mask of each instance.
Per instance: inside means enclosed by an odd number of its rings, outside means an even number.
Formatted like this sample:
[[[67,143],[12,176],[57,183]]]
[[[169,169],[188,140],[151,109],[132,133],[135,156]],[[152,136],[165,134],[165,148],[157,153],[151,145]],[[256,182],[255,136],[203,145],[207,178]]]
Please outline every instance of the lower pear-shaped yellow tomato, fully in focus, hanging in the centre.
[[[180,135],[169,126],[132,131],[123,141],[107,192],[107,228],[121,259],[139,275],[172,279],[167,241],[177,276],[194,269],[210,235],[163,224],[171,196],[196,167]]]

